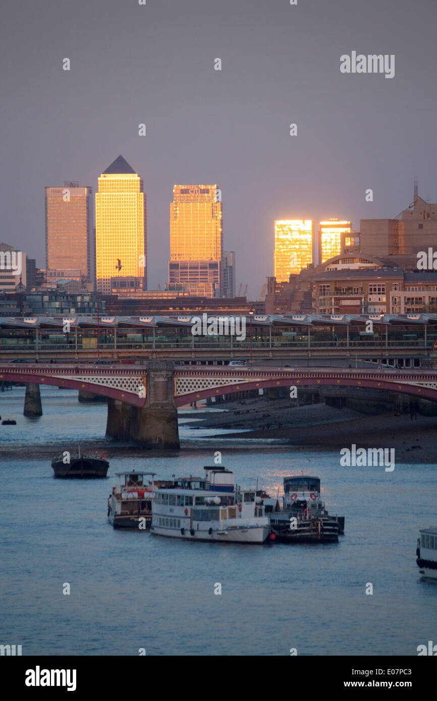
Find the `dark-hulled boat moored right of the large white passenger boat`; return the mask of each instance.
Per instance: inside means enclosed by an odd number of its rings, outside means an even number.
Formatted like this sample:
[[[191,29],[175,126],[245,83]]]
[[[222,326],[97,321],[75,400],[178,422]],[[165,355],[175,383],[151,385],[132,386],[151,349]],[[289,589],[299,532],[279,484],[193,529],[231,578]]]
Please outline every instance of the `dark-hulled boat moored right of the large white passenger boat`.
[[[332,517],[325,510],[320,479],[285,477],[283,484],[283,509],[269,515],[275,539],[283,543],[338,543],[339,534],[344,534],[344,516]]]

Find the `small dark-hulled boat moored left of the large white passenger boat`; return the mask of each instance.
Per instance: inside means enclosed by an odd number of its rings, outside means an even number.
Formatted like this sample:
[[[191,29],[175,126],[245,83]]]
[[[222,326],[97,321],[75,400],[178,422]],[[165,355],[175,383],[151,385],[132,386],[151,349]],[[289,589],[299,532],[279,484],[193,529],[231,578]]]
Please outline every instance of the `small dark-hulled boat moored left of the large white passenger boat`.
[[[108,521],[114,528],[147,530],[152,522],[152,501],[155,498],[156,472],[116,472],[119,484],[112,487],[108,497]],[[152,482],[144,483],[145,475]],[[122,479],[123,478],[123,479]]]

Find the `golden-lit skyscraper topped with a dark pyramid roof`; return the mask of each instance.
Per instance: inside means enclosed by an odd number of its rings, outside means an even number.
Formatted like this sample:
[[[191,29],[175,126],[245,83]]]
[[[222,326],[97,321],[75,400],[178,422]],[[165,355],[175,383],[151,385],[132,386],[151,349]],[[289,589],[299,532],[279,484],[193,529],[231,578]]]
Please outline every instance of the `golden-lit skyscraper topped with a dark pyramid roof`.
[[[116,158],[95,194],[95,268],[103,294],[147,290],[146,196],[142,178]]]

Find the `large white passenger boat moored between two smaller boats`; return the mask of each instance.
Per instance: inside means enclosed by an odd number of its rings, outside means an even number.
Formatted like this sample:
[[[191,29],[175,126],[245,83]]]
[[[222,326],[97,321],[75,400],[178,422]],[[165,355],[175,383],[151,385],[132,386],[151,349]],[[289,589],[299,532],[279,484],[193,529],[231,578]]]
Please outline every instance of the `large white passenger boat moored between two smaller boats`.
[[[264,543],[269,519],[255,489],[234,484],[234,473],[226,468],[204,470],[203,477],[174,479],[156,489],[150,532],[213,543]]]

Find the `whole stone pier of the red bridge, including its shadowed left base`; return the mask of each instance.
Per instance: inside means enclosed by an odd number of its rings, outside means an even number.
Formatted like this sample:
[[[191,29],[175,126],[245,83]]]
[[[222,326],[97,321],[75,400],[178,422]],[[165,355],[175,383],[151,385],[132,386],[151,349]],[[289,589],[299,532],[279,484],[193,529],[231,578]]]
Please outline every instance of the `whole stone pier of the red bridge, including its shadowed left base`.
[[[149,361],[143,407],[108,399],[106,435],[148,450],[179,449],[172,362]]]

